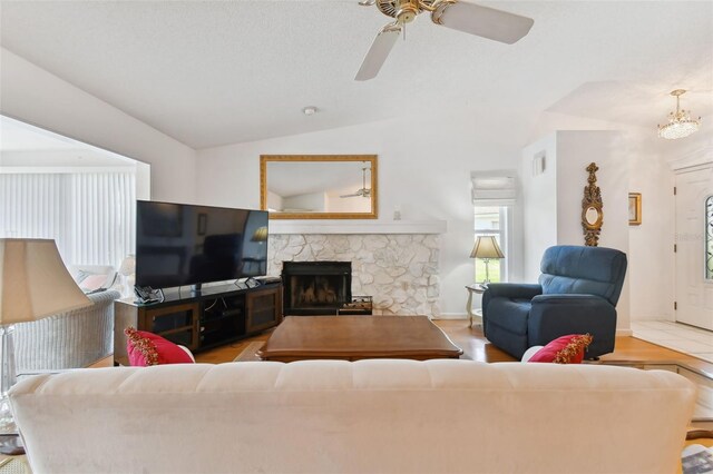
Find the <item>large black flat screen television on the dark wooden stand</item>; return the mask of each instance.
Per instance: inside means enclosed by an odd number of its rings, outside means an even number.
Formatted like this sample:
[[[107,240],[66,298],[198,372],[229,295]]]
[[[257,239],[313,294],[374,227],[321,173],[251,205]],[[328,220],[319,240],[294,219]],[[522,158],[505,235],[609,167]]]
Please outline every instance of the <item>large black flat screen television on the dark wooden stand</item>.
[[[136,285],[168,288],[267,273],[267,211],[136,201]]]

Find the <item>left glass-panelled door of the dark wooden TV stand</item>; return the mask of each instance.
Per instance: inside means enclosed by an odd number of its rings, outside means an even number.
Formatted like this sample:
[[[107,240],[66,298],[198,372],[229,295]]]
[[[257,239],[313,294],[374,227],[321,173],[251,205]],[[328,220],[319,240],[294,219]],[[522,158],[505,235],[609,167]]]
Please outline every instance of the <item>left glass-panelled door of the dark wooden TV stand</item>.
[[[198,348],[198,310],[197,303],[155,309],[144,308],[140,328],[196,350]]]

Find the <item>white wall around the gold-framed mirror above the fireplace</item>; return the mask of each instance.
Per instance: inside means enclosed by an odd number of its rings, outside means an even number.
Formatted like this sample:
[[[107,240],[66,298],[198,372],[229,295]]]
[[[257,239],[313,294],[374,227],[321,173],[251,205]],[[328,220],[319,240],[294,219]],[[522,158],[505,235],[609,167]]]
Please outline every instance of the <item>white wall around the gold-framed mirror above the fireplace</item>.
[[[375,154],[379,220],[391,220],[398,206],[403,220],[447,221],[440,307],[445,316],[462,316],[473,275],[470,171],[517,167],[528,130],[501,126],[508,120],[497,112],[448,112],[198,150],[198,200],[258,207],[261,154]]]

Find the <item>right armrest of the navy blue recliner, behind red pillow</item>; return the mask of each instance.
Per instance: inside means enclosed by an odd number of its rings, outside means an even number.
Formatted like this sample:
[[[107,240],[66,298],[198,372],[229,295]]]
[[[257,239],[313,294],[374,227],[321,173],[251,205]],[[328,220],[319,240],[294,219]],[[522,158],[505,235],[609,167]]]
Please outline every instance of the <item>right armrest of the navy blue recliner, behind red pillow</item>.
[[[528,318],[530,345],[547,345],[567,334],[593,336],[587,356],[614,350],[616,309],[596,295],[539,295],[533,298]]]

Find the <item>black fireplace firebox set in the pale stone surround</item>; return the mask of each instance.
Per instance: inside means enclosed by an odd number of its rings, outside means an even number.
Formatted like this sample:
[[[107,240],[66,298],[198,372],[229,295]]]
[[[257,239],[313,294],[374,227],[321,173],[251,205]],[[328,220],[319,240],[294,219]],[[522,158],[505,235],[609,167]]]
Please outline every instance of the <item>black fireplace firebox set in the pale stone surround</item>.
[[[335,315],[352,300],[351,261],[283,261],[283,314]]]

